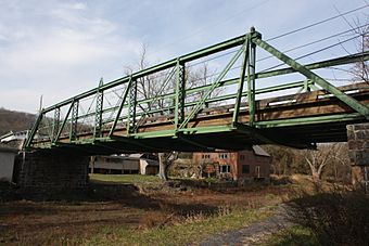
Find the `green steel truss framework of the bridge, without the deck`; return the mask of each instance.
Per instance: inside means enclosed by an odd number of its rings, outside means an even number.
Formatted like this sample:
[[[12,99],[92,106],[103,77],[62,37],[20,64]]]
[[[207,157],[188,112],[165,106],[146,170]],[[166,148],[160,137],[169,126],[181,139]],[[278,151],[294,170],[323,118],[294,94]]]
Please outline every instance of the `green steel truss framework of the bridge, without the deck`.
[[[255,67],[257,48],[264,49],[272,56],[289,65],[289,67],[256,73]],[[189,63],[201,60],[208,55],[225,52],[230,49],[237,49],[237,51],[212,83],[198,86],[194,88],[187,88],[186,69]],[[238,78],[225,79],[226,75],[230,72],[230,69],[232,69],[240,57],[240,76]],[[259,130],[285,126],[290,127],[297,125],[323,124],[340,120],[349,121],[362,118],[368,120],[368,105],[361,104],[313,72],[314,69],[318,68],[368,60],[369,53],[364,52],[303,65],[264,41],[262,39],[262,35],[252,28],[246,35],[242,35],[225,42],[198,50],[143,70],[139,70],[109,83],[103,83],[101,79],[98,88],[91,89],[42,109],[30,131],[28,139],[24,144],[24,148],[29,150],[35,146],[41,148],[46,146],[58,147],[61,145],[64,146],[65,144],[101,144],[104,142],[122,141],[128,144],[137,145],[138,147],[142,146],[152,148],[154,151],[156,150],[155,147],[148,146],[139,141],[136,141],[154,138],[180,139],[183,141],[183,143],[187,142],[191,143],[192,145],[199,145],[199,147],[206,148],[206,145],[196,143],[187,137],[193,134],[239,131],[249,132],[253,134],[254,138],[263,140],[264,142],[273,142],[260,134]],[[168,73],[166,78],[163,80],[160,91],[154,96],[143,99],[138,96],[138,81],[140,79],[155,75],[157,73],[163,73],[168,69],[170,73]],[[293,81],[262,89],[257,89],[255,86],[257,79],[277,77],[293,73],[304,75],[306,79],[303,81]],[[169,92],[165,91],[165,87],[173,80],[175,80],[174,90]],[[236,92],[212,96],[212,93],[217,89],[231,85],[237,86],[238,89]],[[122,90],[122,92],[118,94],[118,104],[106,106],[106,100],[104,100],[105,93],[118,87],[124,87],[124,90]],[[301,93],[311,90],[320,90],[319,88],[326,90],[334,98],[342,101],[345,105],[351,107],[354,113],[293,119],[256,120],[255,95],[283,91],[288,89],[298,89],[297,93]],[[196,93],[202,93],[202,98],[193,101],[186,100],[187,96],[191,96]],[[94,111],[80,114],[80,102],[91,96],[93,96],[96,100]],[[163,100],[169,100],[173,101],[173,103],[162,108],[148,107],[139,111],[139,107],[142,105],[154,105],[156,102]],[[189,127],[189,122],[196,119],[198,115],[203,113],[204,108],[206,108],[208,104],[224,102],[227,100],[234,100],[234,104],[232,105],[233,112],[231,124],[226,126]],[[244,104],[247,106],[247,114],[250,118],[249,122],[246,124],[240,122],[242,106],[244,106]],[[67,109],[65,115],[62,117],[61,108],[63,107]],[[211,108],[207,108],[207,111],[211,111]],[[144,124],[145,119],[152,117],[153,115],[164,114],[164,112],[169,113],[167,114],[168,118],[173,118],[171,129],[152,132],[139,131],[140,126]],[[50,116],[47,116],[48,114],[53,114],[53,118],[51,119],[52,124],[44,124],[50,121]],[[106,114],[114,115],[114,117],[104,118],[104,115]],[[87,127],[81,122],[81,120],[86,118],[93,118],[93,126],[88,126],[92,130],[88,133],[81,132],[80,130],[81,128]],[[126,133],[117,134],[116,132],[119,131],[122,126],[124,126],[126,129]],[[51,133],[50,135],[44,135],[42,132]],[[81,135],[84,138],[80,138]],[[65,141],[66,137],[68,141]],[[61,143],[61,139],[63,139],[63,143]],[[42,144],[38,144],[39,142],[42,142]]]

